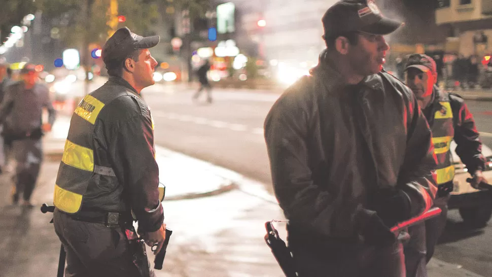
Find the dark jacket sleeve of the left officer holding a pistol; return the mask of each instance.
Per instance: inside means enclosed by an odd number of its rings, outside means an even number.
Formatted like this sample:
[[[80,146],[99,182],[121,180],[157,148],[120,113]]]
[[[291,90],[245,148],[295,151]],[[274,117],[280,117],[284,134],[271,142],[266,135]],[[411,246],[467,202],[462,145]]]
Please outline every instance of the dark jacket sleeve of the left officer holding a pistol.
[[[120,97],[114,116],[121,116],[113,131],[115,174],[124,184],[124,194],[138,220],[139,230],[153,232],[164,220],[159,201],[159,168],[155,160],[154,130],[150,111],[136,99]],[[126,117],[123,116],[126,115]]]

